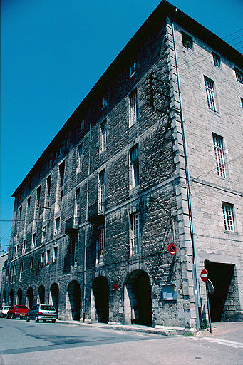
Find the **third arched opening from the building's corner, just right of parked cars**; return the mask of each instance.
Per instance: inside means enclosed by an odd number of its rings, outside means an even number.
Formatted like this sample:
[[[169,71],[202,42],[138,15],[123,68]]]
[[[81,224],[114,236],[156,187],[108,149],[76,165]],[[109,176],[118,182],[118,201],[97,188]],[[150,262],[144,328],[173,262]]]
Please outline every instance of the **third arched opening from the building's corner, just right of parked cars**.
[[[81,304],[81,289],[76,280],[68,284],[66,293],[66,319],[79,321]]]

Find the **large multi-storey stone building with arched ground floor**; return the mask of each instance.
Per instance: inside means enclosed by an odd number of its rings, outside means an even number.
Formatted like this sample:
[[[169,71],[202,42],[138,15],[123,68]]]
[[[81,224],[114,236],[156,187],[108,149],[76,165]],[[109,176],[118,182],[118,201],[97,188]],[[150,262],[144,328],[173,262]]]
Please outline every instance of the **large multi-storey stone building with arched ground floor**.
[[[242,55],[162,1],[14,192],[1,302],[199,328],[205,267],[212,320],[242,320],[242,83]]]

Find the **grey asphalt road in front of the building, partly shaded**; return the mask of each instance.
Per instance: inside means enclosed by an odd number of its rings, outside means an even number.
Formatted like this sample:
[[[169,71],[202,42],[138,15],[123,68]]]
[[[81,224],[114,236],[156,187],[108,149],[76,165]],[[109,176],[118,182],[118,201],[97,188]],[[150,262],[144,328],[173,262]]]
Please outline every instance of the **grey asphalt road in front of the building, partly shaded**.
[[[242,365],[243,330],[166,337],[0,319],[0,353],[4,365]]]

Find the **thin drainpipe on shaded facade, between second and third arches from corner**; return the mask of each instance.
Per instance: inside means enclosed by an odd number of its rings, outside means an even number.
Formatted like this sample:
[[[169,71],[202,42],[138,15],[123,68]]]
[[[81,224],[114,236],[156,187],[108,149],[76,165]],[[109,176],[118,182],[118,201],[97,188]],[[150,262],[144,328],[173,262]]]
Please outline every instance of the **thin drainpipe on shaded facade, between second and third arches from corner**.
[[[87,257],[87,235],[88,235],[88,190],[89,190],[89,176],[91,175],[91,123],[89,131],[88,143],[88,176],[86,185],[86,223],[84,233],[84,258],[83,258],[83,322],[86,319],[86,257]]]

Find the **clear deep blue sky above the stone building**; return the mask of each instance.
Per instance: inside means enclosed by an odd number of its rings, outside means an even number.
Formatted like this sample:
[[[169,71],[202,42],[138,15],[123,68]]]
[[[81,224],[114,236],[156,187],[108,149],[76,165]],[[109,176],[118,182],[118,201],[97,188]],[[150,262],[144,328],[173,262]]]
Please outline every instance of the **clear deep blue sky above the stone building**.
[[[221,38],[237,32],[225,41],[243,51],[242,0],[170,2]],[[157,0],[1,0],[3,245],[9,244],[12,193],[158,4]]]

